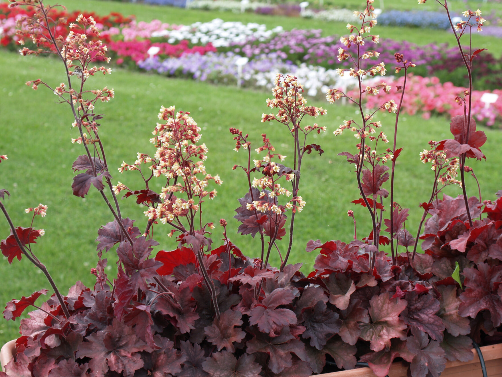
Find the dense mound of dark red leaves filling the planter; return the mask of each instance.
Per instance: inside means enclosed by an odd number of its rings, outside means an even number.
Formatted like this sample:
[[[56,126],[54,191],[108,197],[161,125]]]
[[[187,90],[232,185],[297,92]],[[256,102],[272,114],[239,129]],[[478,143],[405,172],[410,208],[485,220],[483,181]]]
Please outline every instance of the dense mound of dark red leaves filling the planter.
[[[472,217],[479,216],[482,206],[470,201]],[[489,342],[502,324],[502,199],[488,204],[488,217],[473,227],[462,206],[462,198],[447,196],[434,203],[421,237],[425,254],[400,255],[393,266],[380,252],[372,270],[369,246],[360,241],[310,241],[307,250],[319,255],[308,277],[300,264],[260,269],[233,244],[222,245],[203,259],[219,317],[190,248],[151,258],[157,243],[140,236],[131,220],[123,224],[132,246],[109,223],[97,241],[99,250],[118,243],[112,285],[99,251],[95,286],[77,282],[64,298],[70,318],[53,296],[21,320],[17,362],[7,373],[308,376],[328,358],[339,368],[366,361],[383,377],[402,358],[414,377],[438,376],[446,360],[472,358],[471,339]],[[17,256],[16,247],[2,241],[8,255]],[[462,286],[451,277],[455,263]],[[46,292],[11,301],[5,318],[19,317]]]

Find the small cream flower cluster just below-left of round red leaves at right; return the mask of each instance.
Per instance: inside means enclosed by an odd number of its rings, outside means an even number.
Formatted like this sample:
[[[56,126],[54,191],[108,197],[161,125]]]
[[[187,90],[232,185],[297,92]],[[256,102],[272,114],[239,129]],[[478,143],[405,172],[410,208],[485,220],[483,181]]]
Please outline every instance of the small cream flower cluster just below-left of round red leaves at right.
[[[458,157],[446,157],[446,152],[442,150],[436,150],[438,142],[429,141],[431,149],[424,149],[420,152],[420,160],[422,163],[430,162],[432,164],[431,170],[439,174],[437,181],[443,185],[446,184],[458,184],[462,186],[462,182],[455,177],[458,175],[458,167],[460,166],[460,160]],[[443,172],[441,172],[444,170]]]

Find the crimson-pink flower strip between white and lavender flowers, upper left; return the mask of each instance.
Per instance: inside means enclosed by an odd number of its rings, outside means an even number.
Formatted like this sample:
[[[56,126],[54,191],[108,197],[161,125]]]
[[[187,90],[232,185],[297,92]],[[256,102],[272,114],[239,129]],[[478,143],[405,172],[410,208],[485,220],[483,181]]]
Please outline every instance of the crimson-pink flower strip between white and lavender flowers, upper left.
[[[216,48],[213,47],[211,43],[205,46],[193,46],[188,47],[188,41],[181,41],[177,45],[172,45],[170,43],[152,43],[149,40],[143,41],[116,41],[108,43],[108,48],[118,55],[117,63],[120,64],[123,58],[130,57],[135,62],[140,60],[145,60],[148,57],[148,49],[152,46],[160,47],[160,52],[158,55],[167,55],[180,57],[184,54],[194,54],[198,52],[200,55],[204,55],[209,51],[216,52]]]

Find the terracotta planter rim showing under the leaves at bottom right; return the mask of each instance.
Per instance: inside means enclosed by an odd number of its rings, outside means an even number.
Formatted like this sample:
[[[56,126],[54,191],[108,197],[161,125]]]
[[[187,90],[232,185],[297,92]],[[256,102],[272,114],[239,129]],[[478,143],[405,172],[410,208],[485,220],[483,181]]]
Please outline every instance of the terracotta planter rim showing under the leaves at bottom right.
[[[484,361],[502,359],[502,343],[492,344],[480,347],[481,353],[483,355]],[[448,368],[454,368],[456,366],[465,366],[479,362],[479,357],[474,348],[472,348],[472,353],[474,357],[470,361],[462,362],[462,361],[447,361],[445,371]],[[402,362],[395,362],[392,364],[391,369],[389,370],[389,377],[401,377],[406,376],[408,371],[408,366],[404,365]],[[444,372],[443,372],[444,373]],[[502,375],[502,368],[500,369],[500,375]],[[323,373],[316,374],[311,377],[376,377],[376,375],[372,372],[370,368],[355,368],[349,370],[340,370],[338,372],[331,373]]]

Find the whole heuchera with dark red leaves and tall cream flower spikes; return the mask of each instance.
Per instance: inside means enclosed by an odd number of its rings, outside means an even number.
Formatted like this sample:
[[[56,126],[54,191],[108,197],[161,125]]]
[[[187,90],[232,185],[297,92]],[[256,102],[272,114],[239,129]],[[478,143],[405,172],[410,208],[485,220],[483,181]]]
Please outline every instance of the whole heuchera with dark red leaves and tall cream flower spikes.
[[[273,98],[267,100],[277,113],[262,116],[262,122],[279,122],[291,135],[294,148],[289,167],[283,164],[286,156],[276,153],[266,134],[263,145],[255,148],[248,135],[230,129],[235,150],[247,152],[244,163],[233,167],[243,170],[248,182],[234,218],[241,223],[239,233],[250,234],[261,245],[261,257],[252,259],[228,240],[224,219],[219,223],[223,244],[214,247],[209,238],[214,225],[204,222],[201,207],[216,196],[213,185],[222,182],[218,175],[206,172],[208,151],[190,114],[176,112],[174,106],[162,107],[151,139],[155,149],[139,153],[134,163],[124,162],[119,168],[140,174],[144,187],[113,185],[99,137],[102,115],[95,113],[95,107],[111,100],[114,93],[107,88],[85,89],[90,75],[109,73],[108,68],[93,66],[95,61],[107,60],[93,18],[77,17],[77,24],[70,24],[69,34],[63,37],[55,30],[66,20],[53,19],[52,7],[31,0],[11,3],[36,9],[33,17],[20,20],[19,27],[37,49],[25,47],[21,53],[55,54],[66,70],[66,82],[57,87],[41,79],[28,84],[34,89],[47,86],[74,116],[73,126],[80,136],[72,141],[82,145],[83,154],[73,163],[78,172],[73,194],[83,198],[94,186],[112,221],[98,230],[98,262],[91,270],[96,284],[87,288],[78,281],[63,295],[33,247],[44,235],[34,227],[34,220],[37,215],[44,217],[47,207],[28,208],[27,213],[33,212],[32,223],[28,228],[16,227],[5,207],[10,194],[0,190],[0,209],[11,228],[11,235],[0,245],[2,253],[10,263],[15,258],[30,260],[54,290],[40,306],[35,301],[48,293],[46,289],[7,304],[7,320],[19,317],[29,306],[36,310],[21,320],[16,355],[0,376],[308,376],[326,370],[326,364],[349,369],[362,361],[383,377],[393,360],[401,358],[413,377],[437,377],[446,360],[473,357],[473,340],[487,344],[500,339],[502,192],[494,202],[482,202],[480,190],[479,198],[468,198],[464,179],[464,172],[475,177],[466,159],[484,157],[480,147],[486,137],[476,131],[470,117],[469,96],[472,64],[481,51],[458,43],[470,77],[469,90],[457,98],[464,115],[452,119],[452,139],[431,141],[421,153],[424,163],[432,163],[434,177],[431,195],[420,205],[423,216],[414,235],[406,227],[409,209],[393,199],[396,160],[402,150],[397,139],[399,113],[406,75],[415,65],[397,53],[396,70],[405,73],[403,85],[397,88],[401,98],[367,113],[365,98],[390,90],[385,83],[363,82],[365,76],[386,73],[385,64],[375,65],[370,59],[378,52],[360,49],[379,40],[378,35],[366,35],[376,24],[371,3],[367,1],[364,12],[356,12],[360,26],[347,26],[352,34],[341,38],[345,48],[338,55],[353,64],[339,73],[357,78],[357,96],[332,89],[327,99],[333,103],[346,97],[358,109],[358,118],[344,121],[334,134],[349,130],[357,138],[354,152],[340,154],[356,167],[358,193],[353,203],[366,208],[372,230],[359,240],[354,212],[349,211],[353,240],[309,241],[306,250],[319,250],[319,255],[315,271],[308,276],[299,271],[301,263],[288,264],[288,259],[295,217],[305,206],[300,195],[302,165],[324,152],[308,139],[312,132],[325,132],[325,127],[304,126],[304,117],[323,116],[326,110],[306,105],[295,77],[278,75]],[[446,2],[443,5],[449,17]],[[481,28],[480,14],[467,11],[468,21],[452,25],[457,41],[470,28]],[[389,139],[379,130],[381,122],[373,119],[379,110],[396,113],[393,147],[383,151],[382,144]],[[259,154],[257,159],[252,158],[252,148]],[[2,160],[7,156],[1,155]],[[160,193],[150,186],[156,179],[163,183]],[[389,180],[390,192],[384,188]],[[440,198],[450,184],[460,185],[462,195]],[[118,195],[134,197],[147,207],[141,230],[121,214]],[[151,257],[158,245],[152,238],[157,226],[170,229],[178,248]],[[282,247],[278,241],[287,233],[289,242]],[[419,239],[424,253],[418,252]],[[110,279],[103,251],[117,244],[118,274]],[[390,256],[380,249],[385,244],[390,244]],[[279,268],[268,263],[276,251],[282,261]]]

